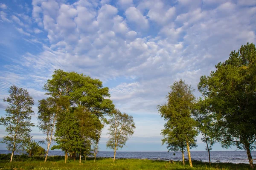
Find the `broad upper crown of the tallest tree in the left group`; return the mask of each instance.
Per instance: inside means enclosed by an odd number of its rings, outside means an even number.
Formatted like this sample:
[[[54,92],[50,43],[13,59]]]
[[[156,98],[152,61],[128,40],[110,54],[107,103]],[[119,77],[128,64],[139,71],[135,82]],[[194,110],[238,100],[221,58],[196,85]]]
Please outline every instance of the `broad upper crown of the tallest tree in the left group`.
[[[44,85],[46,94],[60,97],[67,96],[71,106],[82,105],[97,116],[111,113],[114,105],[110,99],[107,87],[102,86],[99,79],[76,72],[55,70],[52,79]]]

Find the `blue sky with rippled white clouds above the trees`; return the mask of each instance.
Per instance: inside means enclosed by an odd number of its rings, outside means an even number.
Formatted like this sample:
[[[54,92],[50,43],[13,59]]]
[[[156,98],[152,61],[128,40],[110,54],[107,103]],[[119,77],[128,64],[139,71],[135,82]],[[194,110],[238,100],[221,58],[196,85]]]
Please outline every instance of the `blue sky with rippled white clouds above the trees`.
[[[183,79],[201,96],[200,77],[255,44],[255,34],[255,0],[0,0],[0,116],[16,85],[34,98],[37,124],[44,83],[55,69],[76,71],[100,79],[116,108],[134,117],[135,133],[120,151],[167,151],[157,105],[167,102],[169,86]],[[36,127],[32,135],[44,138]],[[200,139],[192,151],[204,151]]]

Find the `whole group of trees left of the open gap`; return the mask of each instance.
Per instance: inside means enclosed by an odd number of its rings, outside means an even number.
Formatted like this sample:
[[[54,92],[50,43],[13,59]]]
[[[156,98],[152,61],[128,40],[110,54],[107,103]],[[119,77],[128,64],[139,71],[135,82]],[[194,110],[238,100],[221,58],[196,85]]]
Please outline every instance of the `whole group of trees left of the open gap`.
[[[39,143],[46,144],[47,150],[32,141],[30,135],[31,127],[35,126],[31,122],[34,101],[28,91],[13,85],[9,96],[3,99],[9,106],[0,124],[5,125],[9,133],[3,137],[3,142],[12,151],[10,161],[16,150],[26,150],[29,156],[45,155],[45,162],[49,149],[64,151],[65,163],[68,156],[74,161],[79,156],[80,163],[82,156],[86,159],[88,155],[94,154],[96,158],[105,124],[110,125],[107,146],[114,150],[115,161],[116,150],[123,147],[134,133],[135,124],[132,116],[115,108],[109,99],[108,88],[103,87],[99,79],[55,70],[52,79],[44,84],[44,90],[47,98],[38,101],[37,127],[46,136]],[[105,116],[110,119],[107,120]],[[53,141],[56,145],[51,147]]]

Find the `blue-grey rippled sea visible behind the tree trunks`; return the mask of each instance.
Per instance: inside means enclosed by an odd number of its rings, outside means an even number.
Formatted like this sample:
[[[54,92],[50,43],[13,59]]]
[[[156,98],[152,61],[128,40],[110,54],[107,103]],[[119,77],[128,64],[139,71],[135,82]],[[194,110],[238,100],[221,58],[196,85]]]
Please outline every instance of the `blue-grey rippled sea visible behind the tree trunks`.
[[[11,153],[9,150],[0,150],[0,153],[8,154]],[[15,153],[18,154],[18,153]],[[188,159],[187,153],[185,159]],[[212,151],[211,162],[231,162],[235,164],[245,163],[249,164],[248,157],[245,151]],[[256,161],[256,151],[251,152],[253,161]],[[64,156],[63,151],[49,150],[49,156]],[[97,157],[113,158],[113,152],[99,151]],[[181,161],[182,154],[180,152],[116,152],[116,159],[127,158],[127,159],[150,159],[150,160],[174,160]],[[206,151],[191,151],[192,160],[198,160],[202,162],[208,162],[208,152]]]

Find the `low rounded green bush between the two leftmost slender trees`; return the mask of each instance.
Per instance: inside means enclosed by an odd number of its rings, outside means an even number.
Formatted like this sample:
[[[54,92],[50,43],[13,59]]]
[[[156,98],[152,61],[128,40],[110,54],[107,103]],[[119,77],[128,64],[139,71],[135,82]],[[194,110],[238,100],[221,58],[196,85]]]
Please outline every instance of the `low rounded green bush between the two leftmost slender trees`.
[[[45,149],[41,147],[37,142],[30,141],[26,146],[26,153],[30,156],[43,156]]]

